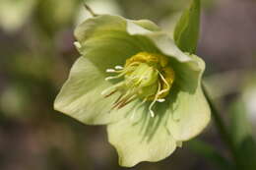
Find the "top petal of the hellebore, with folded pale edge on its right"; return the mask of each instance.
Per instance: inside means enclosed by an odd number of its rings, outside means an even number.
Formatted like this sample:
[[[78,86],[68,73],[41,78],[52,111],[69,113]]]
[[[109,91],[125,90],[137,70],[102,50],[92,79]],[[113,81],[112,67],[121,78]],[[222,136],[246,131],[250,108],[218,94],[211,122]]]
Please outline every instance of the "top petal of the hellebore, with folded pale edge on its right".
[[[76,28],[75,36],[81,44],[79,51],[82,55],[102,71],[123,65],[127,58],[141,51],[162,53],[178,62],[189,62],[189,66],[198,67],[166,33],[160,32],[158,26],[147,20],[131,21],[102,15]]]

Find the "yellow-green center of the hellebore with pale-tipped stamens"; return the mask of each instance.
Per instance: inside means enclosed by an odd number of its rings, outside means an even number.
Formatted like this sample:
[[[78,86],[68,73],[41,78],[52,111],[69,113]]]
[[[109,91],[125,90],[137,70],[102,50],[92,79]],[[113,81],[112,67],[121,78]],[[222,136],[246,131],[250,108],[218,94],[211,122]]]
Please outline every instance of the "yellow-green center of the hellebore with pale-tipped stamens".
[[[107,77],[106,81],[122,78],[122,81],[101,92],[105,97],[120,92],[113,109],[120,109],[135,99],[141,99],[141,104],[151,102],[149,110],[152,117],[155,116],[154,104],[165,101],[164,97],[169,93],[175,77],[167,57],[148,52],[140,52],[127,59],[124,67],[115,66],[115,69],[107,69],[106,72],[117,74]]]

